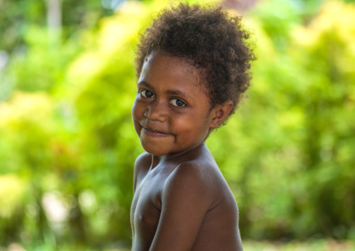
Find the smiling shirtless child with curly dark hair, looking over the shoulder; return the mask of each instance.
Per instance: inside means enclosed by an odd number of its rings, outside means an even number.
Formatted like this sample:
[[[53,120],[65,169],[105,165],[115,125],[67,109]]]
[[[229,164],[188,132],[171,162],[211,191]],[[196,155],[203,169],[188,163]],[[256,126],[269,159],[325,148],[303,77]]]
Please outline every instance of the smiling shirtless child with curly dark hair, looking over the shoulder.
[[[249,87],[254,59],[240,17],[180,4],[138,45],[133,124],[134,251],[242,250],[238,207],[205,145]]]

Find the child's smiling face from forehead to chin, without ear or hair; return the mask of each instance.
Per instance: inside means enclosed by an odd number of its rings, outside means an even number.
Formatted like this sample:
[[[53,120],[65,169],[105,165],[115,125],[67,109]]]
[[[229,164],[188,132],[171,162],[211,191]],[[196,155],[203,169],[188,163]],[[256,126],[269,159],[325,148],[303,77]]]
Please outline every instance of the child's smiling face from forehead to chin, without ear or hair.
[[[201,145],[213,120],[210,99],[188,62],[152,52],[143,64],[132,107],[143,148],[152,155],[180,154]]]

